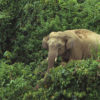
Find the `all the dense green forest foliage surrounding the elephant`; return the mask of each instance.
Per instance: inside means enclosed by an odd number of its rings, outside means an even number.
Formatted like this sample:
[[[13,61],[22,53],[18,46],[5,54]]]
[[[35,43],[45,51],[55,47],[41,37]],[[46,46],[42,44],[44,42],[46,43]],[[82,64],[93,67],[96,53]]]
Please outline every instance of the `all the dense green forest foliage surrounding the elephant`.
[[[100,0],[0,0],[0,100],[100,100],[100,53],[45,73],[43,37],[81,28],[100,33]]]

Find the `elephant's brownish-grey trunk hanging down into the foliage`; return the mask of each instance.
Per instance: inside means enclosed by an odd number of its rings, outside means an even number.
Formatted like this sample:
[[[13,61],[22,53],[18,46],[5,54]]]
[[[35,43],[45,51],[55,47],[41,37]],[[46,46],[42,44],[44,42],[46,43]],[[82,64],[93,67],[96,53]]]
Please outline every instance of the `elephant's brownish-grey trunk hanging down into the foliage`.
[[[57,48],[50,48],[48,53],[48,70],[54,66],[55,61],[57,60],[58,50]]]

